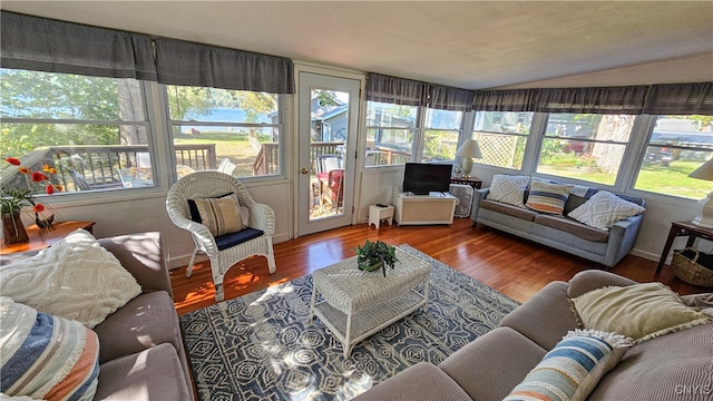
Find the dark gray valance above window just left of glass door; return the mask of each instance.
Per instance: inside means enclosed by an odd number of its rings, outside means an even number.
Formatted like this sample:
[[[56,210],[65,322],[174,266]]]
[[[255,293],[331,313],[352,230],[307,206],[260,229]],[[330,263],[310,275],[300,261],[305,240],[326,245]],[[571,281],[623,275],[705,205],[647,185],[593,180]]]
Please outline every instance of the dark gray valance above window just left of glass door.
[[[290,59],[172,39],[155,41],[160,84],[294,94]]]

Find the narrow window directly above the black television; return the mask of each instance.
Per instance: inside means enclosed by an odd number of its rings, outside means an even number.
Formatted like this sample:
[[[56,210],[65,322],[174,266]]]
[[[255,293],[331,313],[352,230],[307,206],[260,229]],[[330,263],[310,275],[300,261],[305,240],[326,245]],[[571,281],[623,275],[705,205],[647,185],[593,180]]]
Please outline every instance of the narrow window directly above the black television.
[[[462,111],[432,108],[426,110],[426,134],[421,156],[423,162],[437,163],[456,159],[462,119]]]

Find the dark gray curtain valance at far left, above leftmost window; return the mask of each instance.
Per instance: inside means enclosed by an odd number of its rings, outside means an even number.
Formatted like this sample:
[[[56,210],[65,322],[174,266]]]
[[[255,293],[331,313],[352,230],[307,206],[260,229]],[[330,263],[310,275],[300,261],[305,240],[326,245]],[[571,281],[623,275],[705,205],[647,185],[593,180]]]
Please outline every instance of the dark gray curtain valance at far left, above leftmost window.
[[[3,68],[156,80],[146,35],[2,11]]]

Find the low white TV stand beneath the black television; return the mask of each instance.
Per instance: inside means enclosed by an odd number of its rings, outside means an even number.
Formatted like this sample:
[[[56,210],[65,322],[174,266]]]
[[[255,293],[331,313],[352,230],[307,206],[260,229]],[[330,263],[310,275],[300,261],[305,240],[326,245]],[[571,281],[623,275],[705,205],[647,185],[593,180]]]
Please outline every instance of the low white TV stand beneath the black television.
[[[412,195],[393,187],[393,219],[398,225],[452,224],[457,198],[449,193]]]

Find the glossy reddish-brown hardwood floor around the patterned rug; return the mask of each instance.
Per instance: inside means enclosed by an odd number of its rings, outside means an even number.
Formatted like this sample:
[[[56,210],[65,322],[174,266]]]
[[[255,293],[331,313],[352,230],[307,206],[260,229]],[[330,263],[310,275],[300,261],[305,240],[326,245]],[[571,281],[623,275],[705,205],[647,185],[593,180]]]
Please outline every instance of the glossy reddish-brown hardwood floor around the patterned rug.
[[[551,281],[567,281],[583,270],[600,268],[593,262],[509,234],[480,225],[476,228],[470,218],[457,218],[450,226],[382,224],[375,229],[360,224],[275,244],[277,271],[272,275],[264,257],[233,266],[225,275],[225,299],[284,283],[354,256],[354,248],[365,238],[409,244],[519,302]],[[664,266],[658,276],[655,270],[656,262],[628,255],[612,271],[637,282],[661,281],[682,295],[706,292],[676,278],[670,266]],[[185,267],[173,270],[172,285],[178,314],[215,303],[207,262],[197,264],[189,278]]]

